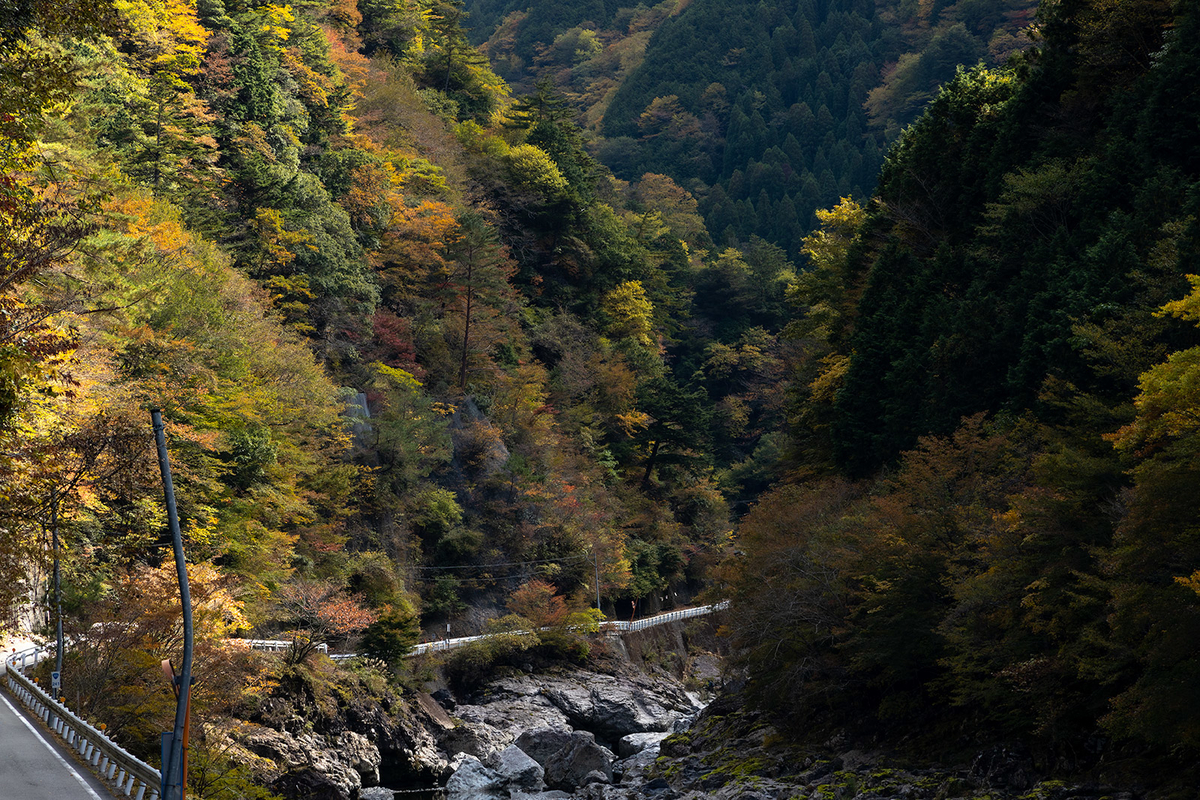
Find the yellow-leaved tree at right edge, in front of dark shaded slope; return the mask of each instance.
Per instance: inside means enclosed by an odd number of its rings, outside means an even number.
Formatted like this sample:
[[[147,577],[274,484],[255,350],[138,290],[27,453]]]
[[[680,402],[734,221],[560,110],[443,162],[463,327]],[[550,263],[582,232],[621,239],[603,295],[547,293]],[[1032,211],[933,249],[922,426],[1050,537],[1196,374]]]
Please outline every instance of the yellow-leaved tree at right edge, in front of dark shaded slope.
[[[1160,315],[1200,323],[1200,276]],[[1133,462],[1134,486],[1110,557],[1112,643],[1134,676],[1108,724],[1151,741],[1195,747],[1187,709],[1200,702],[1200,347],[1145,373],[1136,416],[1110,438]]]

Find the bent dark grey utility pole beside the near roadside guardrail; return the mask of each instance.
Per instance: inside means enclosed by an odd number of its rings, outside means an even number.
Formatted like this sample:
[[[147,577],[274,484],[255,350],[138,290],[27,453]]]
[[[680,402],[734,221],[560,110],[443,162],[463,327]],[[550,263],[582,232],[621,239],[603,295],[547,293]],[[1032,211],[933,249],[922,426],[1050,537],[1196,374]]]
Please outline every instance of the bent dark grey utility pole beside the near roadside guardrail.
[[[170,541],[175,551],[175,571],[179,573],[179,599],[184,607],[184,664],[178,678],[175,693],[175,729],[163,734],[162,800],[185,800],[187,796],[187,712],[192,694],[192,596],[187,587],[187,561],[184,559],[184,535],[179,530],[179,512],[175,509],[175,487],[170,482],[170,461],[167,457],[167,435],[162,425],[162,411],[150,410],[154,422],[155,444],[158,446],[158,469],[162,473],[163,495],[167,500],[167,522],[170,524]]]

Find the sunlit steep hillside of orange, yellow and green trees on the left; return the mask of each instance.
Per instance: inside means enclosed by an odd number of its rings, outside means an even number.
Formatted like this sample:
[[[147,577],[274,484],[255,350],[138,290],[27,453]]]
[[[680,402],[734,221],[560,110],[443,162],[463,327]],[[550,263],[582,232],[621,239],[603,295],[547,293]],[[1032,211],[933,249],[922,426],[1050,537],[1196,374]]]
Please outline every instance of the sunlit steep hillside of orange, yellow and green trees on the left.
[[[514,102],[452,2],[18,5],[0,587],[49,621],[59,559],[89,716],[157,752],[180,642],[150,408],[205,603],[200,720],[265,691],[229,637],[296,663],[361,638],[396,679],[422,628],[703,585],[727,495],[778,469],[725,474],[778,427],[781,361],[684,330],[697,282],[758,299],[742,253],[692,254],[686,192],[612,181],[553,94]]]

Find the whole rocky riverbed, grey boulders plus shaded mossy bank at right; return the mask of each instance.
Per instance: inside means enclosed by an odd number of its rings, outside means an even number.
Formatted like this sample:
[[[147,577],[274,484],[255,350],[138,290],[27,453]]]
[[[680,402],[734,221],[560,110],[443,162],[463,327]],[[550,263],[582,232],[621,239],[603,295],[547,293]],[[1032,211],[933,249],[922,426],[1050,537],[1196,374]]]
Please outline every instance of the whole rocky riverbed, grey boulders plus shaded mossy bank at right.
[[[451,800],[1140,796],[1100,783],[1039,780],[1014,747],[914,768],[838,740],[799,745],[742,708],[736,694],[706,708],[667,672],[648,674],[616,660],[592,669],[515,672],[461,696],[360,690],[293,687],[287,702],[265,702],[236,724],[230,741],[289,800],[391,800],[385,787],[434,786]]]

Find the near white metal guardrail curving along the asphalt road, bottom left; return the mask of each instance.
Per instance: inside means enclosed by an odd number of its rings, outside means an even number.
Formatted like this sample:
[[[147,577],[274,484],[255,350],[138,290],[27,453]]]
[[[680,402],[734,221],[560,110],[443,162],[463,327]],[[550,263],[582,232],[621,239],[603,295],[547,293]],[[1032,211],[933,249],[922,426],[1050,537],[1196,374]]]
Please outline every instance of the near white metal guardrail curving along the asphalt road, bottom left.
[[[120,794],[134,800],[157,800],[158,788],[162,786],[162,774],[158,770],[131,754],[104,732],[77,717],[71,709],[25,676],[23,670],[42,661],[48,652],[48,646],[41,646],[6,656],[8,691]]]

